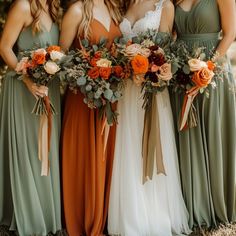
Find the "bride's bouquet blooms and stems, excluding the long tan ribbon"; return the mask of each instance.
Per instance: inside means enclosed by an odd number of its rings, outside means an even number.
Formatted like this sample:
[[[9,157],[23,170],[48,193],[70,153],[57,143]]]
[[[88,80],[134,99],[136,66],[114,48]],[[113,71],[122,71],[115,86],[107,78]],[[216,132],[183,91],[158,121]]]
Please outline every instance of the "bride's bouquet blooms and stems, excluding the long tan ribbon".
[[[170,34],[155,30],[139,34],[123,46],[120,44],[121,52],[129,58],[132,80],[137,86],[142,86],[144,108],[151,105],[153,95],[170,84],[176,72],[170,44]]]

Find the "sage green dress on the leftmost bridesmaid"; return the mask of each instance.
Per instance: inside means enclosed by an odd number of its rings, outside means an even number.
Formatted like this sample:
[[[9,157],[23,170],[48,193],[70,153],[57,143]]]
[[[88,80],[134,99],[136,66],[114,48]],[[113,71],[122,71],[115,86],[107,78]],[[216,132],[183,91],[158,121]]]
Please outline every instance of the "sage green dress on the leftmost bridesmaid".
[[[58,44],[59,31],[32,34],[28,27],[17,45],[24,51]],[[41,177],[38,160],[39,117],[31,114],[34,96],[9,71],[0,94],[0,225],[17,230],[20,236],[47,235],[61,229],[59,135],[59,81],[49,86],[49,97],[56,107],[50,150],[50,173]]]

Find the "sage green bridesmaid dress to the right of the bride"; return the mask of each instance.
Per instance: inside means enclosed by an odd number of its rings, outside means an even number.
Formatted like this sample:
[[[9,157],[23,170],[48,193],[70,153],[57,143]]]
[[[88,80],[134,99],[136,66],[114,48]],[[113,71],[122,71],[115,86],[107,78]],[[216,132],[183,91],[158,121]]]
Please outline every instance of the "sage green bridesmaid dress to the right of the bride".
[[[221,31],[217,0],[199,0],[186,12],[176,7],[178,40],[206,47],[208,56],[219,44]],[[177,131],[183,195],[190,214],[190,227],[213,226],[236,220],[236,100],[230,72],[210,97],[198,95],[198,126]],[[184,94],[172,93],[172,108],[179,128]]]

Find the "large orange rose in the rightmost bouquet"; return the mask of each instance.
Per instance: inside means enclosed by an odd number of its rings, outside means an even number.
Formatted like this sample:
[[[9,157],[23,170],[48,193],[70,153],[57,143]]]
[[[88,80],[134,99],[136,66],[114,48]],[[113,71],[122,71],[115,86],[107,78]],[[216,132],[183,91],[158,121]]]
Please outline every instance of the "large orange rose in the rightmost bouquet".
[[[203,88],[210,84],[213,76],[213,71],[209,70],[208,68],[202,68],[200,71],[194,72],[192,80],[197,87]]]

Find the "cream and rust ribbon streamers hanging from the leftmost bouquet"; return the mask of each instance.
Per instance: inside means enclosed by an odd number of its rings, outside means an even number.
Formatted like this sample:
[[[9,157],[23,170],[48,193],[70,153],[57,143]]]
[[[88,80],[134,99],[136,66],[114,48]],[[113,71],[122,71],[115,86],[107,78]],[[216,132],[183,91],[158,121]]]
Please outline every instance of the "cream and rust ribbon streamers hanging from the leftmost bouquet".
[[[46,114],[40,116],[39,123],[39,135],[38,135],[38,158],[42,162],[41,164],[41,176],[47,176],[49,174],[49,151],[51,141],[51,129],[52,129],[52,110],[50,106],[50,100],[48,96],[43,98]]]

